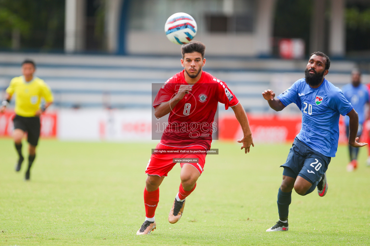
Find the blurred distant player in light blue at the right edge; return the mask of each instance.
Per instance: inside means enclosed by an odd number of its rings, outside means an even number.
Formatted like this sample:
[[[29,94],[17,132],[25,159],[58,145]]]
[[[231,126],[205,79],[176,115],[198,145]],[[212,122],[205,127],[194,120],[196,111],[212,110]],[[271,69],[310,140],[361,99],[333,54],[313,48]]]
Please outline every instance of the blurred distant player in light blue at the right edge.
[[[359,69],[352,70],[352,82],[343,86],[342,91],[344,97],[352,104],[354,110],[359,114],[359,130],[357,137],[362,134],[363,123],[365,121],[365,105],[369,103],[369,91],[367,87],[361,84],[361,72]],[[349,136],[349,117],[344,116],[344,123],[346,124],[347,137]],[[347,171],[353,171],[357,168],[357,155],[359,148],[349,147],[350,163],[347,165]]]

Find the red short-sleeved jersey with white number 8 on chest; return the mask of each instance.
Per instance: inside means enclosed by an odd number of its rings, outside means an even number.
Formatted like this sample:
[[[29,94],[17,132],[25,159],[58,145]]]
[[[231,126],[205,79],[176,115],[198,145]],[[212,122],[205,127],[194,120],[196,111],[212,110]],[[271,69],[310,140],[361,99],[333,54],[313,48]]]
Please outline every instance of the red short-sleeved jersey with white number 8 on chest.
[[[164,83],[153,107],[171,100],[182,84],[188,84],[184,72],[176,73]],[[192,90],[189,94],[185,94],[169,113],[161,143],[175,147],[201,145],[210,149],[212,132],[219,127],[213,122],[218,102],[225,104],[225,109],[228,109],[238,104],[239,100],[225,82],[204,71],[198,82],[190,86]]]

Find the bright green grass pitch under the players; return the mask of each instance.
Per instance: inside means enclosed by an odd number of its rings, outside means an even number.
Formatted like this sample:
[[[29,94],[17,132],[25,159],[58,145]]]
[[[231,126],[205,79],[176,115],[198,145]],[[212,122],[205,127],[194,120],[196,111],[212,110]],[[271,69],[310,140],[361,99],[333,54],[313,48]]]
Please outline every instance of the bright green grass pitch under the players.
[[[25,182],[27,163],[16,173],[13,142],[0,139],[0,245],[370,245],[367,149],[360,150],[359,168],[347,173],[346,146],[329,165],[325,197],[293,191],[288,232],[265,230],[278,219],[279,166],[290,144],[257,143],[244,154],[239,144],[214,142],[219,155],[207,156],[181,220],[167,220],[179,186],[176,165],[160,187],[157,229],[137,236],[155,145],[41,139]]]

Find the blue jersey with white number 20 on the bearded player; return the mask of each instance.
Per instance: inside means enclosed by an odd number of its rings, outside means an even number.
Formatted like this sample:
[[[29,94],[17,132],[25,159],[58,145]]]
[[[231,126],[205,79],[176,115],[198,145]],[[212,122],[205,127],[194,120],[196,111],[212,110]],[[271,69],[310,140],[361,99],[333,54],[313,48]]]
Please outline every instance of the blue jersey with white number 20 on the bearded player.
[[[302,128],[297,138],[324,156],[334,157],[338,148],[339,114],[346,115],[353,109],[343,92],[326,79],[316,89],[306,79],[300,79],[277,98],[285,106],[295,103],[302,111]]]

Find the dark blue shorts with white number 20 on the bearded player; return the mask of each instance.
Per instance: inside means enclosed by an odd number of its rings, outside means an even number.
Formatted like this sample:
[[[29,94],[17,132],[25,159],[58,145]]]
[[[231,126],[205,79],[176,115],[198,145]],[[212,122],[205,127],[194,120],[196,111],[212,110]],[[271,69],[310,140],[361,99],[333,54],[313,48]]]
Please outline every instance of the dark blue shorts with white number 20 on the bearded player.
[[[284,167],[283,175],[294,179],[301,176],[313,184],[326,172],[331,159],[295,138],[286,162],[280,167]]]

